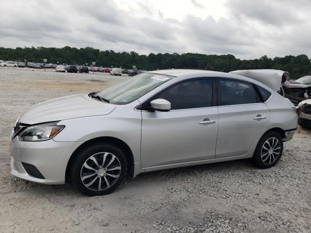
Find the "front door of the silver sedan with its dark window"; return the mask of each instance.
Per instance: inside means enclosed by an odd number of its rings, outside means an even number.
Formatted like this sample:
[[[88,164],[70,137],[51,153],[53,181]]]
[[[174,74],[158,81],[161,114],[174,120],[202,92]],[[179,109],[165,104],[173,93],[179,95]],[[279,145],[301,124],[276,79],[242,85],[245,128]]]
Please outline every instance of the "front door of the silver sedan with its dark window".
[[[143,167],[215,158],[218,109],[214,106],[213,85],[213,79],[192,79],[177,83],[151,99],[170,101],[171,111],[142,111]]]

